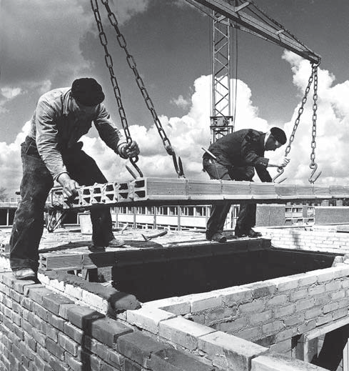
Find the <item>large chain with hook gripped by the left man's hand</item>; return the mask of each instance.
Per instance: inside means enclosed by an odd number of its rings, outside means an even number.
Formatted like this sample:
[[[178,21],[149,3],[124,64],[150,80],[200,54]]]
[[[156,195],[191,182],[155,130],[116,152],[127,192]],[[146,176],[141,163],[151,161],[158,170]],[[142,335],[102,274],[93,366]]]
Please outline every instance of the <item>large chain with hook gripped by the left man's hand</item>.
[[[101,14],[99,13],[99,9],[98,9],[98,1],[97,0],[91,0],[91,7],[92,7],[92,10],[93,10],[94,18],[96,19],[99,40],[101,41],[101,45],[104,48],[104,53],[105,53],[104,60],[106,61],[106,66],[108,67],[109,74],[110,74],[110,77],[111,77],[111,85],[113,86],[113,92],[114,92],[114,95],[115,95],[115,98],[116,98],[116,103],[118,104],[118,114],[120,115],[123,131],[125,132],[126,141],[128,143],[131,143],[132,142],[131,134],[130,134],[130,131],[128,130],[128,122],[127,122],[127,119],[126,119],[125,109],[123,109],[123,104],[122,104],[122,100],[121,100],[121,91],[120,91],[120,88],[118,87],[118,81],[116,79],[116,76],[115,76],[114,70],[113,70],[113,59],[111,58],[111,54],[109,54],[109,52],[108,52],[108,46],[107,46],[108,45],[108,40],[106,39],[106,34],[103,30]],[[130,157],[129,160],[130,160],[131,164],[133,165],[133,167],[137,170],[139,176],[143,177],[143,174],[142,174],[141,170],[136,165],[136,162],[138,162],[138,156]],[[126,169],[128,169],[128,171],[130,171],[127,166],[126,166]],[[131,172],[131,174],[132,174],[133,177],[136,177],[133,172]]]

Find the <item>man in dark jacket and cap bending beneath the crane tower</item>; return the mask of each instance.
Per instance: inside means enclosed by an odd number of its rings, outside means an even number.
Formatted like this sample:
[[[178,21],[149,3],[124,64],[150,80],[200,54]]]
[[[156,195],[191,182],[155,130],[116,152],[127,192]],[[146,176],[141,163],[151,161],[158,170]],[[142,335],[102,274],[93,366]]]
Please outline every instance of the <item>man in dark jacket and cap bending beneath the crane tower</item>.
[[[211,179],[252,181],[255,169],[262,182],[272,182],[267,167],[285,167],[290,159],[281,157],[276,162],[264,157],[265,151],[275,151],[287,141],[285,132],[272,127],[263,133],[242,129],[218,139],[203,154],[203,169]],[[223,227],[231,204],[212,205],[206,227],[206,239],[226,242]],[[256,224],[256,204],[241,204],[236,222],[236,237],[261,237],[252,229]]]

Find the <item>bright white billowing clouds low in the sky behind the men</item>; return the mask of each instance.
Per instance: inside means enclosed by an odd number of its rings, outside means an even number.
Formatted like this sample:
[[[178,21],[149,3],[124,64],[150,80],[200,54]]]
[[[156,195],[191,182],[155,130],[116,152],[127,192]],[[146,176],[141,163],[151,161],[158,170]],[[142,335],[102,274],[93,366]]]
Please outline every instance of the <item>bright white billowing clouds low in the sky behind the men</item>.
[[[285,52],[283,55],[293,71],[293,84],[298,89],[299,102],[310,76],[308,61],[295,54]],[[318,119],[316,130],[315,161],[319,170],[323,171],[317,184],[346,184],[349,174],[345,167],[349,140],[349,103],[345,99],[349,95],[349,81],[335,84],[335,76],[329,71],[319,69],[318,72]],[[201,158],[203,150],[210,143],[211,114],[211,76],[201,76],[193,84],[190,108],[182,117],[161,116],[161,124],[177,156],[183,161],[187,178],[208,179],[202,172]],[[305,104],[304,112],[298,125],[289,157],[291,162],[285,169],[288,182],[308,184],[310,176],[310,142],[312,129],[313,102],[312,91]],[[300,104],[300,103],[299,103]],[[288,137],[293,130],[298,107],[289,122],[280,123]],[[18,189],[21,179],[19,143],[24,138],[24,127],[12,144],[0,143],[0,170],[3,179],[2,187]],[[258,107],[253,105],[253,91],[243,82],[238,81],[238,99],[236,112],[236,130],[253,128],[260,131],[270,129],[270,124],[258,116]],[[155,125],[146,128],[131,125],[131,136],[141,148],[138,166],[145,177],[177,177],[173,168],[172,157],[163,148],[163,142]],[[84,137],[84,149],[96,159],[104,174],[110,181],[131,179],[124,164],[127,162],[108,149],[97,137]],[[271,159],[283,156],[285,146],[276,152],[266,152]],[[131,166],[131,165],[130,165]],[[16,170],[17,169],[17,170]],[[270,169],[272,176],[276,169]]]

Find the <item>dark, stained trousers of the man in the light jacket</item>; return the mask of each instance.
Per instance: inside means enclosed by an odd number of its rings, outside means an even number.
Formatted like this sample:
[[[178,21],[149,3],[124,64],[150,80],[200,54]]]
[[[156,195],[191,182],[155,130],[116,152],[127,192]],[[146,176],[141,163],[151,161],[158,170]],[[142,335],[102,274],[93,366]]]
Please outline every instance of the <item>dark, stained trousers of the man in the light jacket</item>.
[[[64,164],[70,177],[79,185],[106,183],[96,162],[81,150],[82,143],[62,151]],[[21,202],[14,215],[10,239],[10,264],[12,269],[39,267],[39,243],[44,231],[44,207],[49,191],[54,185],[49,170],[41,159],[36,142],[26,137],[21,144],[23,178]],[[92,240],[96,246],[107,246],[113,239],[109,207],[91,207]]]

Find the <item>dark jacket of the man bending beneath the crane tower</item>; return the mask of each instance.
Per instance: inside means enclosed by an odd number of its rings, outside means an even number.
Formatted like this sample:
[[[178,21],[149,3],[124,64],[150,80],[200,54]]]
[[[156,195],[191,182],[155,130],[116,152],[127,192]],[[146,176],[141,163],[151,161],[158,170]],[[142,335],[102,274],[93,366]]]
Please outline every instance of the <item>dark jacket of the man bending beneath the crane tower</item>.
[[[272,179],[266,167],[269,159],[264,157],[265,133],[253,129],[242,129],[221,137],[208,150],[217,161],[227,168],[254,167],[262,182]],[[211,158],[205,153],[203,158]]]

